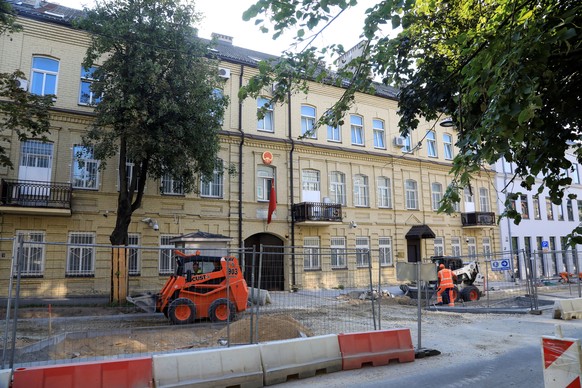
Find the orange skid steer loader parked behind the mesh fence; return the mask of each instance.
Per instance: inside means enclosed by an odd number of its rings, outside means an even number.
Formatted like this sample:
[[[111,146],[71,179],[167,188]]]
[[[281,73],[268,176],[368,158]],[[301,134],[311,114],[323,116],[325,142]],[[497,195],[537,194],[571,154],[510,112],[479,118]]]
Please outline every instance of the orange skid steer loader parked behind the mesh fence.
[[[246,310],[249,291],[236,257],[186,255],[174,250],[174,259],[175,274],[155,298],[156,311],[172,323],[203,318],[233,321]]]

